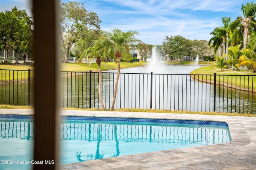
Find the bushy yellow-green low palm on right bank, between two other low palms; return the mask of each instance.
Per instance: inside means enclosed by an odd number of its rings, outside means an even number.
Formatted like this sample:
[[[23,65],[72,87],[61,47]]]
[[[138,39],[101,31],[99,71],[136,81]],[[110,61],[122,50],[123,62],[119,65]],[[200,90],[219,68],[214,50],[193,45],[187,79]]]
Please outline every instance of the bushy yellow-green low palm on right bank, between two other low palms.
[[[234,67],[235,70],[239,70],[239,63],[240,63],[240,60],[239,60],[240,50],[239,49],[240,49],[240,47],[241,47],[241,44],[228,47],[229,54],[226,55],[228,57],[227,63],[232,65],[232,67]]]

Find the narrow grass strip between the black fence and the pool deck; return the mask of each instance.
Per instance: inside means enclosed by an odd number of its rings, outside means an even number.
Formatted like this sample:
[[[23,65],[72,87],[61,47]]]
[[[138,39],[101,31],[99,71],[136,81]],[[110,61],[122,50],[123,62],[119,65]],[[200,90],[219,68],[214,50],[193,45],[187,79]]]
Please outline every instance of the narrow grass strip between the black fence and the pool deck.
[[[12,106],[0,105],[0,109],[34,109],[33,106]],[[246,116],[256,117],[256,114],[251,113],[221,113],[221,112],[207,112],[207,111],[183,111],[183,110],[160,110],[160,109],[81,109],[81,108],[62,108],[63,110],[87,110],[87,111],[128,111],[128,112],[143,112],[143,113],[178,113],[178,114],[201,114],[201,115],[225,115],[225,116]]]

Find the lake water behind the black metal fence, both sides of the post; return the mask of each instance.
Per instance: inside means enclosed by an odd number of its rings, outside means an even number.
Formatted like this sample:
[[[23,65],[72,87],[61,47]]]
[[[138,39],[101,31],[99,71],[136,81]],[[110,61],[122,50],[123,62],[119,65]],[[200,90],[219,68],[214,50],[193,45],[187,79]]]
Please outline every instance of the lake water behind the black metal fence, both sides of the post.
[[[211,82],[204,83],[195,80],[199,75],[189,74],[200,67],[150,64],[121,69],[114,108],[214,111],[215,104],[215,110],[219,112],[256,113],[255,93],[239,90],[239,86],[249,83],[249,77],[241,84],[239,79],[243,79],[244,76],[232,76],[229,84],[233,81],[232,85],[235,85],[234,82],[237,81],[238,88],[227,88],[220,84],[216,85],[214,94],[213,75],[207,76]],[[112,104],[116,72],[117,70],[110,70],[102,73],[102,98],[105,108],[110,108]],[[97,72],[92,72],[91,94],[88,72],[61,72],[60,75],[61,107],[101,108]],[[223,76],[218,78],[224,79]],[[255,85],[256,82],[253,86]],[[2,104],[28,105],[28,100],[28,82],[2,84],[0,90]],[[32,85],[30,101],[31,104],[34,103]]]

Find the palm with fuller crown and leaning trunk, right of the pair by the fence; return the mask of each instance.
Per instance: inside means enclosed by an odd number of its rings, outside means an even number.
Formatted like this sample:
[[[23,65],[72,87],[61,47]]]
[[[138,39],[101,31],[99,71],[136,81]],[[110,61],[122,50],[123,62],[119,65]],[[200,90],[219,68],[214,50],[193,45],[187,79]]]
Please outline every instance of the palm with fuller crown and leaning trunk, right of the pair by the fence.
[[[114,57],[118,64],[111,109],[114,108],[116,101],[121,58],[129,59],[131,57],[130,47],[142,47],[143,42],[135,37],[138,34],[137,31],[132,30],[123,32],[120,29],[112,29],[104,31],[103,36],[95,42],[99,49],[106,51],[106,57]]]

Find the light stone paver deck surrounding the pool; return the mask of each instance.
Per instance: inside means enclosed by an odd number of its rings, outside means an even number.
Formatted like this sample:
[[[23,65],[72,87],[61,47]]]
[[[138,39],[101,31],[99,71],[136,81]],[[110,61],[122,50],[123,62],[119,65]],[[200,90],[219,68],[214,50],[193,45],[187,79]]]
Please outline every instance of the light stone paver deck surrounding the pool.
[[[0,114],[27,115],[33,110],[0,109]],[[224,121],[232,139],[224,144],[64,164],[61,170],[256,170],[256,117],[74,110],[62,110],[61,115]]]

